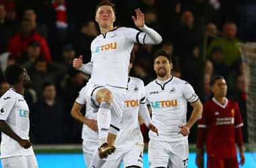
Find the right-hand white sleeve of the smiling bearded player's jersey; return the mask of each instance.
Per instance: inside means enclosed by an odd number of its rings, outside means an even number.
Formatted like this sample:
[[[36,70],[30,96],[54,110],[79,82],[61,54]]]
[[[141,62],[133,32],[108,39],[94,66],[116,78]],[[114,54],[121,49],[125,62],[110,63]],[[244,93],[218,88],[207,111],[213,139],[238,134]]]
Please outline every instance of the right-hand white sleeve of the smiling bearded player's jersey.
[[[189,101],[189,103],[194,103],[199,99],[197,94],[195,94],[193,87],[187,82],[185,82],[181,91],[183,91],[183,96],[187,101]]]

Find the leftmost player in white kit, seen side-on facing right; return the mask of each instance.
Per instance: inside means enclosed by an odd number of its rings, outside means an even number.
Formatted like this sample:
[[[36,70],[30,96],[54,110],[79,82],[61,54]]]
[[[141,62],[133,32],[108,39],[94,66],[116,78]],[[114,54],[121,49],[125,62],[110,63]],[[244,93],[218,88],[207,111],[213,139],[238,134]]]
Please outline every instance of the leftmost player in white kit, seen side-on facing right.
[[[0,130],[2,167],[38,167],[32,143],[29,140],[30,120],[24,89],[30,85],[30,77],[20,65],[10,65],[5,79],[11,89],[0,98]]]

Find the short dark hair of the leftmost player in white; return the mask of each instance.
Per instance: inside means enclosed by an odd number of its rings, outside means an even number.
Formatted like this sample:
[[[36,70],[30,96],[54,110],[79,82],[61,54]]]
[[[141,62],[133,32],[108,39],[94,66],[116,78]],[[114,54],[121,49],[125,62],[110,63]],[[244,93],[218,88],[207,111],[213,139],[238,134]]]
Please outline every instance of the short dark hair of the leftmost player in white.
[[[7,69],[5,70],[5,80],[10,85],[15,85],[19,82],[19,77],[20,75],[22,75],[23,72],[24,69],[22,68],[22,66],[17,64],[9,65],[9,67],[7,67]]]

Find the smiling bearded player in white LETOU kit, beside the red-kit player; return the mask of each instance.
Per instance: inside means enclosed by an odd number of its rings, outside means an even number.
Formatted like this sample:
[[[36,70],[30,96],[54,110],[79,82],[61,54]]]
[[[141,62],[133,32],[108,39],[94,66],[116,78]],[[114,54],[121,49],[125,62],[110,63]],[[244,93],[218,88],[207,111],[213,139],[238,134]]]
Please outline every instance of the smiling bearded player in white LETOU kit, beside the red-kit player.
[[[189,129],[199,119],[202,104],[193,87],[172,77],[172,60],[164,50],[154,55],[157,79],[146,86],[146,101],[152,111],[152,123],[159,136],[150,132],[150,167],[187,167]],[[193,113],[187,122],[187,102]]]

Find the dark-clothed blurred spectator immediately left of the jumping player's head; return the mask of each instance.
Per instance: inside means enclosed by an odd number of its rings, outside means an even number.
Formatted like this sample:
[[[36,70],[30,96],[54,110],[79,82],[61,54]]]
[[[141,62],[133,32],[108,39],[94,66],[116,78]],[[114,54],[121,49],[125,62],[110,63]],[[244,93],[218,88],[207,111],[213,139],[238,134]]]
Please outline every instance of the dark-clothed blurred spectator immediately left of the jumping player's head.
[[[83,55],[84,62],[91,60],[91,43],[99,32],[95,22],[89,20],[82,24],[79,32],[73,38],[73,44],[77,55]]]

